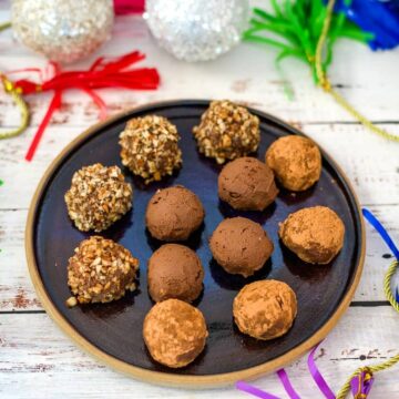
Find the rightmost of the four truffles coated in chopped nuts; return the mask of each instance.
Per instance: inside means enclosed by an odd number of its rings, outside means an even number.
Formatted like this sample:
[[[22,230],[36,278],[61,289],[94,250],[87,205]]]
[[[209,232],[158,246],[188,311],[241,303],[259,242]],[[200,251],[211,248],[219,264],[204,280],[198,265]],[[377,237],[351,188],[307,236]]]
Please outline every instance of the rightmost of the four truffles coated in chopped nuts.
[[[193,130],[198,150],[222,164],[255,152],[260,142],[259,120],[231,101],[212,101]]]

